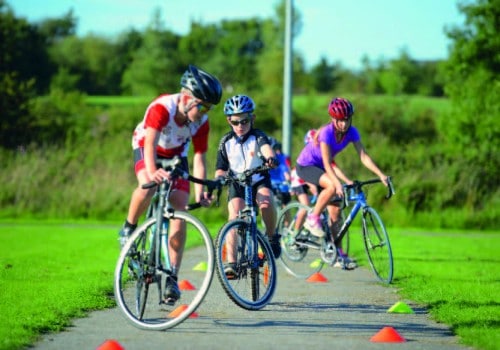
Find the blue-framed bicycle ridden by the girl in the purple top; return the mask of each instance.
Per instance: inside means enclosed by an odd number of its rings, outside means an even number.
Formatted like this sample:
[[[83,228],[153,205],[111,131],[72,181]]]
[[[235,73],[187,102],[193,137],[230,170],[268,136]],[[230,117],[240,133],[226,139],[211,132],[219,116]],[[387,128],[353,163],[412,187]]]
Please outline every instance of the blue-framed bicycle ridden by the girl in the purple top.
[[[389,186],[385,198],[389,199],[395,191],[390,177],[387,181]],[[294,202],[281,211],[277,230],[281,233],[281,262],[288,273],[298,278],[307,278],[319,272],[324,264],[333,265],[338,257],[337,247],[344,237],[348,237],[349,227],[361,211],[362,237],[370,266],[381,282],[392,282],[394,263],[389,235],[377,211],[367,203],[363,191],[363,186],[378,182],[381,180],[354,181],[352,185],[344,185],[344,205],[354,205],[349,213],[345,213],[343,224],[333,239],[326,208],[322,213],[322,227],[326,233],[323,238],[312,236],[302,225],[298,231],[295,229],[297,218],[305,217],[310,212],[310,207]],[[319,250],[321,259],[308,255],[309,249]]]

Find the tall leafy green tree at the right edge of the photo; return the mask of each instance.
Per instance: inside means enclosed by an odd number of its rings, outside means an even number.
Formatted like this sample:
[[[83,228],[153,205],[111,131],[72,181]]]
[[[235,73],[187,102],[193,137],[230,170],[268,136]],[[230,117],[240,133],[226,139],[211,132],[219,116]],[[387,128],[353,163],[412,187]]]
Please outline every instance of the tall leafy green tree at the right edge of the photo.
[[[500,0],[461,3],[463,28],[452,28],[444,67],[453,114],[442,125],[453,162],[457,197],[473,207],[498,193],[500,178]]]

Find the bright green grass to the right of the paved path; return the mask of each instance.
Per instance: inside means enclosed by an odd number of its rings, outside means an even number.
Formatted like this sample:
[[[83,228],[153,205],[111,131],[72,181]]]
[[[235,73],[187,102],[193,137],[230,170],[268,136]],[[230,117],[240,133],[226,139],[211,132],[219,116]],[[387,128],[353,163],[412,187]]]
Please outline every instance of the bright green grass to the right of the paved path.
[[[368,265],[360,229],[350,230],[355,256]],[[499,232],[388,229],[399,295],[425,306],[467,345],[500,344]],[[426,232],[426,233],[423,233]]]

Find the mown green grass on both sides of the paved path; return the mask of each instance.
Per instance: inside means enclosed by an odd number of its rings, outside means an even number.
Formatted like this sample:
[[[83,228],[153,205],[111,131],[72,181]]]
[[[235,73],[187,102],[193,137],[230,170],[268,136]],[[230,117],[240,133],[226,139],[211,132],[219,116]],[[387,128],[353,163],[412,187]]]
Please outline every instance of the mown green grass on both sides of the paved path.
[[[219,224],[209,227],[215,234]],[[0,222],[0,349],[21,349],[72,318],[114,306],[118,224]],[[352,232],[356,232],[353,229]],[[500,232],[389,229],[394,288],[427,306],[461,341],[500,343]],[[359,236],[359,235],[355,235]],[[355,256],[366,264],[359,241]],[[357,248],[356,248],[357,247]]]

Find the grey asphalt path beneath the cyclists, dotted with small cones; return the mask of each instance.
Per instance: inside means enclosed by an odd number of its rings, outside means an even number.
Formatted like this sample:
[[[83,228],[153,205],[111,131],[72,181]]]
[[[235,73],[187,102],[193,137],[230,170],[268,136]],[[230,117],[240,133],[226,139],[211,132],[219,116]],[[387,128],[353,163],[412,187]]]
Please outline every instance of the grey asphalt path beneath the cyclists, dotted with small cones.
[[[376,283],[368,269],[325,267],[320,273],[326,282],[308,282],[287,274],[280,263],[278,266],[276,294],[260,311],[233,304],[214,275],[210,291],[196,311],[198,317],[175,328],[140,330],[114,308],[74,320],[66,331],[44,336],[34,349],[97,349],[104,348],[108,340],[116,340],[127,350],[470,349],[460,345],[446,325],[432,321],[424,308],[401,299],[394,287]],[[397,302],[414,313],[387,312]],[[405,341],[370,340],[385,327]]]

